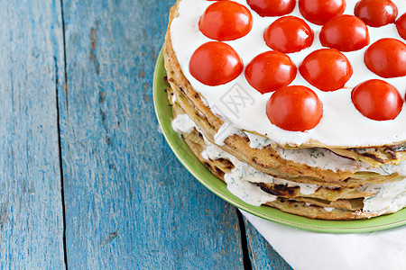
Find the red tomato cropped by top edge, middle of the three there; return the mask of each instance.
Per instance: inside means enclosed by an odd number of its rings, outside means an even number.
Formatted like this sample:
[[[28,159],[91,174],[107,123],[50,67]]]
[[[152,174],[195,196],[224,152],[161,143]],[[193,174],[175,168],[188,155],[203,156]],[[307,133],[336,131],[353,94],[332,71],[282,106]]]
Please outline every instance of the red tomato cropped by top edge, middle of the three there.
[[[345,0],[299,0],[300,14],[310,23],[323,25],[344,13]]]

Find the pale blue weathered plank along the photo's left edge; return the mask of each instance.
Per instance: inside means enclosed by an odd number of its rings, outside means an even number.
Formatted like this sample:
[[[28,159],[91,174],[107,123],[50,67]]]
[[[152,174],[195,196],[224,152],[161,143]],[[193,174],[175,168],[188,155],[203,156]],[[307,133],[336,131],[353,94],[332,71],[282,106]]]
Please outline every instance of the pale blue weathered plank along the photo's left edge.
[[[56,103],[64,74],[60,2],[1,4],[0,266],[61,269]]]

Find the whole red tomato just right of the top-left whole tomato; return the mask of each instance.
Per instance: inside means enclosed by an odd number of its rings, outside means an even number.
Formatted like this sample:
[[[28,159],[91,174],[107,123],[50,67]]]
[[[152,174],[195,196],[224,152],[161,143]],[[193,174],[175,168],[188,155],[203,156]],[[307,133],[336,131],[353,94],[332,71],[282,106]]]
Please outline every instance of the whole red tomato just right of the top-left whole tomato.
[[[296,52],[311,46],[314,33],[308,23],[298,17],[281,17],[263,33],[269,48],[284,53]]]

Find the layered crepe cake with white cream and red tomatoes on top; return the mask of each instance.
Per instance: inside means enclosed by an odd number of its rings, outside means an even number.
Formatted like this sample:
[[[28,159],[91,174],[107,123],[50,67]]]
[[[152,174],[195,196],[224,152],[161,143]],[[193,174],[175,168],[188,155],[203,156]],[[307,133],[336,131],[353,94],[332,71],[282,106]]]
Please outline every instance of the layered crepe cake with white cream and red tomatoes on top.
[[[178,1],[164,46],[172,126],[253,205],[327,220],[399,211],[406,3],[311,2]]]

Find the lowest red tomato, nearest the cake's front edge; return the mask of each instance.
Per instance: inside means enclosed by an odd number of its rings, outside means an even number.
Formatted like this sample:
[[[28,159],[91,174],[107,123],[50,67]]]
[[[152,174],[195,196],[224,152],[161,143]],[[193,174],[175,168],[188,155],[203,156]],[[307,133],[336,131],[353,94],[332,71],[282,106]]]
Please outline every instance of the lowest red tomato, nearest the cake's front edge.
[[[306,86],[286,86],[272,94],[266,103],[266,115],[282,130],[311,130],[323,116],[323,103]]]

